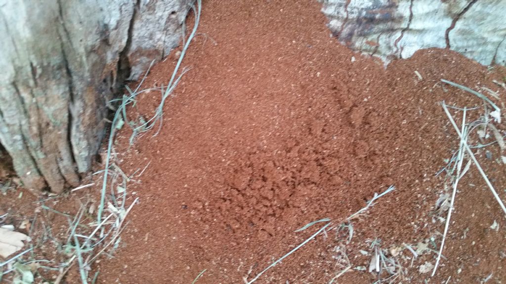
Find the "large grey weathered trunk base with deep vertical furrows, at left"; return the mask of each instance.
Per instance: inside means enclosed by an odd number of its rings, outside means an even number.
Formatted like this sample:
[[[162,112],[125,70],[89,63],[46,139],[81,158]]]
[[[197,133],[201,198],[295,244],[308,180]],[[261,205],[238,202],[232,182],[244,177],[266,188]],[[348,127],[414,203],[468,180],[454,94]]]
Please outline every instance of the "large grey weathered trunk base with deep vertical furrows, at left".
[[[178,45],[189,0],[0,0],[0,143],[27,188],[90,170],[123,80]]]

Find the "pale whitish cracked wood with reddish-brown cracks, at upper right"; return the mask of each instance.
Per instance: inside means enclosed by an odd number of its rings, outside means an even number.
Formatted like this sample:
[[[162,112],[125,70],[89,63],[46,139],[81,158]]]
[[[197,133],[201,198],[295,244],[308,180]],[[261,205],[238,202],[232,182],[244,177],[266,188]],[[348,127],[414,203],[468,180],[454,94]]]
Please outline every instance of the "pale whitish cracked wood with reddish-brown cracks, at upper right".
[[[320,0],[328,26],[350,49],[381,58],[456,51],[483,65],[506,65],[502,0]]]

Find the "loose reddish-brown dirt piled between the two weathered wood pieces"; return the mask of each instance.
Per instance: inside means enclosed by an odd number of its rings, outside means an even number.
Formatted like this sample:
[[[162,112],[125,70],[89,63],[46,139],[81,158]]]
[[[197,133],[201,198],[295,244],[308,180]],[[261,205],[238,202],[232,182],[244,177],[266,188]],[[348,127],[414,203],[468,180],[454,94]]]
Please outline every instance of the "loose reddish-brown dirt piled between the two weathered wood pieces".
[[[352,221],[344,250],[353,268],[368,268],[371,256],[359,250],[370,251],[375,238],[390,248],[434,237],[439,249],[444,223],[435,204],[447,180],[435,174],[458,147],[439,103],[481,106],[440,79],[498,90],[492,80],[506,72],[448,50],[418,52],[385,69],[339,44],[326,22],[316,1],[204,2],[183,61],[192,70],[165,104],[160,133],[132,147],[126,127],[117,137],[123,171],[150,164],[129,187],[140,203],[122,246],[93,267],[98,282],[191,283],[207,269],[196,283],[244,283],[321,225],[294,230],[322,218],[339,223],[390,185],[396,190]],[[175,62],[171,55],[157,64],[143,87],[166,84]],[[149,117],[159,100],[159,92],[143,93],[129,115]],[[496,148],[492,159],[484,151],[478,159],[506,200]],[[418,271],[435,262],[426,253],[395,282],[506,279],[506,219],[474,166],[460,185],[436,276]],[[346,238],[335,230],[318,235],[255,283],[328,283],[343,269],[335,247]],[[72,275],[67,281],[77,283]],[[378,279],[350,269],[338,282]]]

